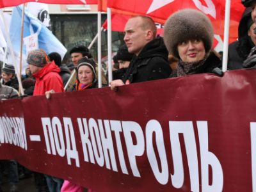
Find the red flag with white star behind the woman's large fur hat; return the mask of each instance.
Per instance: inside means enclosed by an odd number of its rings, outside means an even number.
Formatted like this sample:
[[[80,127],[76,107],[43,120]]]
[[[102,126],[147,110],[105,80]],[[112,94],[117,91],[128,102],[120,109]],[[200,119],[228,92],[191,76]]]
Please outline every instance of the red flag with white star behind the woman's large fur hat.
[[[221,36],[224,34],[225,1],[222,0],[130,0],[129,3],[125,0],[108,0],[108,7],[137,15],[148,15],[155,21],[161,19],[163,22],[177,10],[194,8],[204,12],[211,19],[215,34]],[[230,13],[230,38],[238,36],[238,24],[243,11],[241,0],[233,0]]]

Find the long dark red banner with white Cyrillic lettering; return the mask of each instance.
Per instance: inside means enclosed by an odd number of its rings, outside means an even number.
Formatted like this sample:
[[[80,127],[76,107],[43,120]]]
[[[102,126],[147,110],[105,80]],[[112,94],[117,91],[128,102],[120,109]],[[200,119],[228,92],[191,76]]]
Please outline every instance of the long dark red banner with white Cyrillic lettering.
[[[0,101],[0,158],[96,191],[255,191],[256,70]]]

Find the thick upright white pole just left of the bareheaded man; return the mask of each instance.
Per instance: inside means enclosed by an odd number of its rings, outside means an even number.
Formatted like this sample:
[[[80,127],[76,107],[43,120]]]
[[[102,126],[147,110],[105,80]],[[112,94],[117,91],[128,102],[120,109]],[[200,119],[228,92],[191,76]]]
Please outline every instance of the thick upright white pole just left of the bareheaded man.
[[[111,29],[111,8],[107,8],[108,13],[108,83],[112,77],[112,29]]]

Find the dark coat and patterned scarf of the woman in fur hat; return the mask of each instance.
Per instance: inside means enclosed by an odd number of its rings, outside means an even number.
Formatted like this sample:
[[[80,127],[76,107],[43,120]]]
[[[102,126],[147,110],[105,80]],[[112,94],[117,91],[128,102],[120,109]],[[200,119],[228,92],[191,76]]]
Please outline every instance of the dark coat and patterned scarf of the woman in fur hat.
[[[202,73],[211,73],[212,70],[216,67],[221,66],[221,60],[214,54],[210,53],[209,57],[202,61],[198,62],[183,62],[181,60],[178,61],[177,70],[174,70],[170,77],[180,77],[186,76],[190,74],[202,74]]]

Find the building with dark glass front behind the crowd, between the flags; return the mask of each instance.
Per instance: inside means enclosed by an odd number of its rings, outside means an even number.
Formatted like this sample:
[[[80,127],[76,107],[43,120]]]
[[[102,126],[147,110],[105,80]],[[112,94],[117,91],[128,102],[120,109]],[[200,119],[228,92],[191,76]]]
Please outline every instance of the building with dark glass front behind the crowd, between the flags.
[[[76,45],[88,46],[97,35],[97,5],[88,4],[48,4],[51,18],[51,31],[68,49]],[[4,8],[5,12],[12,12],[12,8]],[[106,13],[102,13],[102,24],[106,20]],[[112,51],[116,52],[124,44],[123,33],[112,32]],[[102,31],[102,58],[108,54],[107,31]],[[97,41],[91,49],[97,60]],[[67,56],[69,58],[69,56]],[[67,58],[64,62],[68,63]]]

